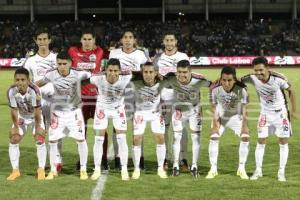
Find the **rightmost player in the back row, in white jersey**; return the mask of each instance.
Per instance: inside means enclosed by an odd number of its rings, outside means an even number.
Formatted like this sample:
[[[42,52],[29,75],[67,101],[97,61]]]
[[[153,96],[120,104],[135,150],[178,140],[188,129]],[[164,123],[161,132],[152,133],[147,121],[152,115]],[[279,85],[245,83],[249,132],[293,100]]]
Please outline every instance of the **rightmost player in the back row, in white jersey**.
[[[177,39],[175,36],[175,33],[172,32],[166,32],[164,34],[163,38],[164,43],[164,52],[162,54],[157,55],[154,58],[155,65],[159,68],[159,73],[161,75],[166,75],[169,72],[176,72],[177,69],[177,63],[180,60],[189,60],[189,57],[182,52],[177,51]],[[165,141],[166,141],[166,160],[165,160],[165,169],[168,168],[168,159],[170,158],[170,151],[169,151],[169,137],[168,132],[170,128],[171,123],[171,108],[172,108],[172,100],[174,98],[173,96],[173,90],[165,88],[162,90],[161,98],[164,102],[164,115],[165,115],[165,123],[166,123],[166,129],[165,129]],[[188,164],[187,164],[187,141],[188,141],[188,135],[187,130],[184,129],[183,139],[181,141],[181,162],[180,165],[182,167],[183,171],[188,170]]]

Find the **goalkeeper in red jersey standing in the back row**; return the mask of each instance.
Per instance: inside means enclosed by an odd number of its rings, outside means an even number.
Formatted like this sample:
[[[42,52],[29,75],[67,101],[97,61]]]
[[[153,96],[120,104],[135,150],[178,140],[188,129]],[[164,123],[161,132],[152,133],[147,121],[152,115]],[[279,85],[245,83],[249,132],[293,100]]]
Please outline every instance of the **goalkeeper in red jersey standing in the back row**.
[[[97,74],[101,71],[101,60],[103,59],[103,50],[96,46],[95,34],[92,30],[86,29],[81,33],[80,47],[70,47],[69,55],[72,58],[72,66],[76,69],[89,71],[92,74]],[[88,124],[88,120],[94,117],[96,109],[97,88],[93,84],[83,84],[81,86],[82,112],[84,124]],[[85,127],[85,134],[87,126]],[[107,134],[103,144],[102,166],[105,170],[108,169],[107,162]],[[85,136],[86,137],[86,136]],[[77,162],[79,170],[80,163]]]

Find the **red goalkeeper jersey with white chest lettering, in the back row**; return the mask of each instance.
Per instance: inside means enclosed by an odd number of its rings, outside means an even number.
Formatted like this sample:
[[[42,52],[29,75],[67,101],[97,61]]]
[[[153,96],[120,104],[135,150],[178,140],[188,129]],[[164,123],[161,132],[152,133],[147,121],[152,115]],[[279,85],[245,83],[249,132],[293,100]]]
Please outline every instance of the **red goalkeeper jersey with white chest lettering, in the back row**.
[[[91,51],[83,51],[82,48],[71,47],[68,52],[72,58],[72,66],[74,68],[89,71],[92,74],[97,74],[101,71],[103,50],[100,47],[96,47]],[[97,87],[94,84],[81,86],[82,98],[95,96],[97,96]]]

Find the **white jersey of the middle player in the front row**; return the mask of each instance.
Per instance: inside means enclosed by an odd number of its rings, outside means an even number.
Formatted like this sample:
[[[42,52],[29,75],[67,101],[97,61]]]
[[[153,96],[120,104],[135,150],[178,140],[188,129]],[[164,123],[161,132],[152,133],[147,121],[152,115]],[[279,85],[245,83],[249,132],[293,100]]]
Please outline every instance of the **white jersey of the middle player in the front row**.
[[[163,88],[163,82],[157,82],[149,87],[145,85],[141,77],[138,77],[133,79],[132,83],[135,87],[135,110],[157,112],[160,105],[160,92]]]

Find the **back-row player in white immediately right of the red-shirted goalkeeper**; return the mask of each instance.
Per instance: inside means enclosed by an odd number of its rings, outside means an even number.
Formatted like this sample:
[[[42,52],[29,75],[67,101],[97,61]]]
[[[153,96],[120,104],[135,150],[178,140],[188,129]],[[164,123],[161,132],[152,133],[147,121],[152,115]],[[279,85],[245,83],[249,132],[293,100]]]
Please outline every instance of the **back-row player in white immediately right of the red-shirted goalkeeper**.
[[[145,53],[136,48],[136,36],[133,31],[125,30],[121,37],[122,47],[118,49],[113,49],[110,51],[109,58],[119,59],[121,64],[121,71],[131,72],[131,71],[140,71],[140,66],[147,62],[147,57]],[[126,114],[129,119],[132,119],[134,112],[134,92],[130,85],[125,92],[125,109]],[[119,167],[120,158],[118,156],[118,146],[116,143],[116,135],[113,135],[113,144],[115,151],[115,165],[116,168]],[[141,157],[140,167],[144,168],[144,158]]]

